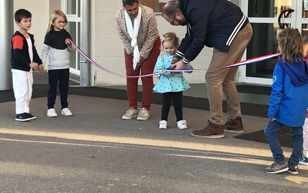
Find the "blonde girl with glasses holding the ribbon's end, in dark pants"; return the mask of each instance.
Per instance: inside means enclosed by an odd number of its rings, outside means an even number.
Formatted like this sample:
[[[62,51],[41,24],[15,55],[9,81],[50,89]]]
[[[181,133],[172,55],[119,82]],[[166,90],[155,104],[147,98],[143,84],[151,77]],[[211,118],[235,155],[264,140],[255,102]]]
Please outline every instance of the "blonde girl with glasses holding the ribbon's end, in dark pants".
[[[71,45],[71,35],[64,29],[67,24],[67,17],[61,10],[54,10],[47,26],[47,33],[42,48],[42,61],[45,66],[47,56],[48,63],[48,82],[47,92],[47,116],[57,117],[55,111],[55,100],[57,97],[57,85],[59,82],[61,114],[72,116],[68,108],[67,96],[70,78],[70,52],[74,47]]]

